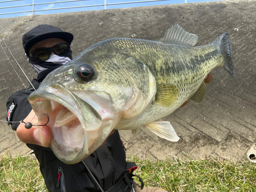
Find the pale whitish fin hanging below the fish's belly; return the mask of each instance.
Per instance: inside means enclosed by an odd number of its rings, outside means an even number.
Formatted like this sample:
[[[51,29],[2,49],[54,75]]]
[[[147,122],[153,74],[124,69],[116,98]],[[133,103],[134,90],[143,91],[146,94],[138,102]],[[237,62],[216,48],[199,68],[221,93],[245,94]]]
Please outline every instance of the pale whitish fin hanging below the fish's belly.
[[[154,121],[146,124],[145,127],[157,136],[168,141],[177,142],[180,139],[168,121]]]

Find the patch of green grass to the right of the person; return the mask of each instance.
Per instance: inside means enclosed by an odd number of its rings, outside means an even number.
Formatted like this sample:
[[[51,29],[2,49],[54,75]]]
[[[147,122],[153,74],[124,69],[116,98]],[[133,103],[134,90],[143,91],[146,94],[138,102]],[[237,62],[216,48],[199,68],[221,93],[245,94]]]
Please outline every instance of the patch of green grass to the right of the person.
[[[132,161],[145,185],[167,191],[256,191],[256,164],[235,164],[221,157],[204,160]],[[137,180],[138,181],[138,180]]]

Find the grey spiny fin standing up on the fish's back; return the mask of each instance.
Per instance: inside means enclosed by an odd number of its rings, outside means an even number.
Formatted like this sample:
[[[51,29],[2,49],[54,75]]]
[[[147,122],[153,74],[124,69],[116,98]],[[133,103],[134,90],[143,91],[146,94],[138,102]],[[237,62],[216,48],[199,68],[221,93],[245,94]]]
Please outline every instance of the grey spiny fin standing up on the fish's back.
[[[186,32],[182,27],[176,24],[166,31],[160,41],[168,44],[193,47],[198,41],[198,36]]]

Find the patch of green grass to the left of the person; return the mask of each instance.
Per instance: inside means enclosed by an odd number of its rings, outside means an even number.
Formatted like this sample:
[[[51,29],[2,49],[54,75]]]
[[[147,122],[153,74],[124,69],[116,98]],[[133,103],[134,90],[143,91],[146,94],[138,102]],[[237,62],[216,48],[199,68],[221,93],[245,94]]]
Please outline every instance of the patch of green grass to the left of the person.
[[[0,191],[48,191],[34,156],[0,157]]]

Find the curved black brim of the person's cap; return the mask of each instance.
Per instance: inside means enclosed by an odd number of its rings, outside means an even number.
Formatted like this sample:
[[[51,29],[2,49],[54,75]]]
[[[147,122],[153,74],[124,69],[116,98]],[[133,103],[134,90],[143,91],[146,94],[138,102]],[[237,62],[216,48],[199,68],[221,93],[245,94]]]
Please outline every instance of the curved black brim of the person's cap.
[[[60,38],[60,39],[67,41],[68,44],[70,45],[74,39],[74,36],[69,32],[63,32],[63,31],[51,32],[51,33],[45,33],[45,34],[38,35],[36,37],[29,39],[29,41],[26,42],[26,44],[24,46],[26,54],[29,55],[30,48],[33,45],[35,45],[37,42],[39,42],[41,40],[48,39],[48,38]]]

